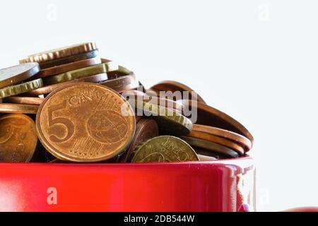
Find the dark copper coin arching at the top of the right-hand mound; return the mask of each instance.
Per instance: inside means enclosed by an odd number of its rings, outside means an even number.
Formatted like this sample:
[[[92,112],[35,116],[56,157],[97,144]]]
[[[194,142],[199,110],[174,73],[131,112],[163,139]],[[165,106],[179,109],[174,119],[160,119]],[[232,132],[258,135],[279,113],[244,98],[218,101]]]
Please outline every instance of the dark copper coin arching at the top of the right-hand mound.
[[[192,88],[189,88],[187,85],[184,85],[182,83],[179,83],[177,81],[162,81],[160,83],[157,83],[155,85],[153,85],[150,90],[155,91],[157,93],[157,95],[160,95],[160,91],[171,91],[172,93],[179,91],[181,92],[181,97],[179,98],[179,100],[196,100],[198,102],[202,102],[202,103],[206,103],[203,98],[197,94],[196,92],[194,92],[194,90],[192,90]],[[183,92],[189,92],[189,96],[184,96]]]

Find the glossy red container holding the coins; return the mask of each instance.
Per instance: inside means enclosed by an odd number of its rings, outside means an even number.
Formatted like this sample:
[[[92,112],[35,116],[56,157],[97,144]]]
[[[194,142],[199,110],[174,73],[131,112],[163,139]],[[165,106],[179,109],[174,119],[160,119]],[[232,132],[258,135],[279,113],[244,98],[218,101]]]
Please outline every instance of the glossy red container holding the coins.
[[[2,211],[253,211],[251,157],[153,164],[0,164]]]

